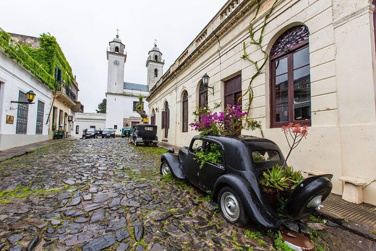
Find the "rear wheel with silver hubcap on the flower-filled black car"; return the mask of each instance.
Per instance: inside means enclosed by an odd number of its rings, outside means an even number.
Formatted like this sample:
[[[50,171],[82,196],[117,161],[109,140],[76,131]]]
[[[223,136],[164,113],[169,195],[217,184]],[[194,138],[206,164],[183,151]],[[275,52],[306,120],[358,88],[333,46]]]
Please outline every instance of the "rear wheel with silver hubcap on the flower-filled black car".
[[[225,186],[219,191],[218,205],[224,218],[238,227],[248,223],[249,218],[243,202],[231,187]]]

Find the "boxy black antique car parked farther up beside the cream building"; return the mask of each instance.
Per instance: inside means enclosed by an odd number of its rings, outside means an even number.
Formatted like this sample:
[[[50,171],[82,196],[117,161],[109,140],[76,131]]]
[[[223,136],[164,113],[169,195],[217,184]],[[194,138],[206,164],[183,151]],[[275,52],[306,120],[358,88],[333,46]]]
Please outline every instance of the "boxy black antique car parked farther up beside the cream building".
[[[134,143],[135,146],[139,144],[154,145],[158,143],[157,126],[149,124],[137,124],[133,128],[133,132],[128,138],[129,143]]]

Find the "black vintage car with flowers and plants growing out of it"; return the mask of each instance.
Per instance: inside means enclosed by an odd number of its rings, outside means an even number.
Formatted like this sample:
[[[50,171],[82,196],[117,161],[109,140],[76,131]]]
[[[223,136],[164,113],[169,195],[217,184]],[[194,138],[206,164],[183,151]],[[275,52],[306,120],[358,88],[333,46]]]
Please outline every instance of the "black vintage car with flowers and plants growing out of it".
[[[200,167],[196,153],[213,147],[220,148],[221,163],[205,162]],[[203,191],[211,191],[227,221],[239,226],[252,219],[258,225],[277,228],[286,221],[304,218],[320,208],[332,190],[331,174],[306,178],[285,204],[284,210],[290,218],[282,219],[258,183],[264,170],[284,163],[284,156],[273,141],[250,136],[195,136],[189,147],[181,148],[178,155],[173,153],[169,149],[162,155],[162,175],[171,172]]]

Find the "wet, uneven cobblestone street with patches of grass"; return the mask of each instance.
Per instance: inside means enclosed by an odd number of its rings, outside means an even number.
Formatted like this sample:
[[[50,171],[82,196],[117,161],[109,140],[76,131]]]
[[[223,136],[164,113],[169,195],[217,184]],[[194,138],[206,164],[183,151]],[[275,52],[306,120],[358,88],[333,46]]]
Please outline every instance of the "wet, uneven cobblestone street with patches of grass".
[[[126,141],[59,141],[0,162],[0,250],[275,248],[271,231],[235,227],[190,184],[161,178],[164,149]],[[324,222],[317,250],[374,250]]]

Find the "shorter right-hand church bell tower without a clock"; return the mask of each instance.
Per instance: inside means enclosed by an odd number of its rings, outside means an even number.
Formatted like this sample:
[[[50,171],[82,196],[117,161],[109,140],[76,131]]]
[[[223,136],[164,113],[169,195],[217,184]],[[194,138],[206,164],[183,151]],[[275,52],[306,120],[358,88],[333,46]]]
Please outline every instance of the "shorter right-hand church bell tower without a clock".
[[[157,40],[155,40],[154,47],[149,51],[149,58],[146,61],[149,91],[163,75],[163,65],[162,52],[158,49]]]

